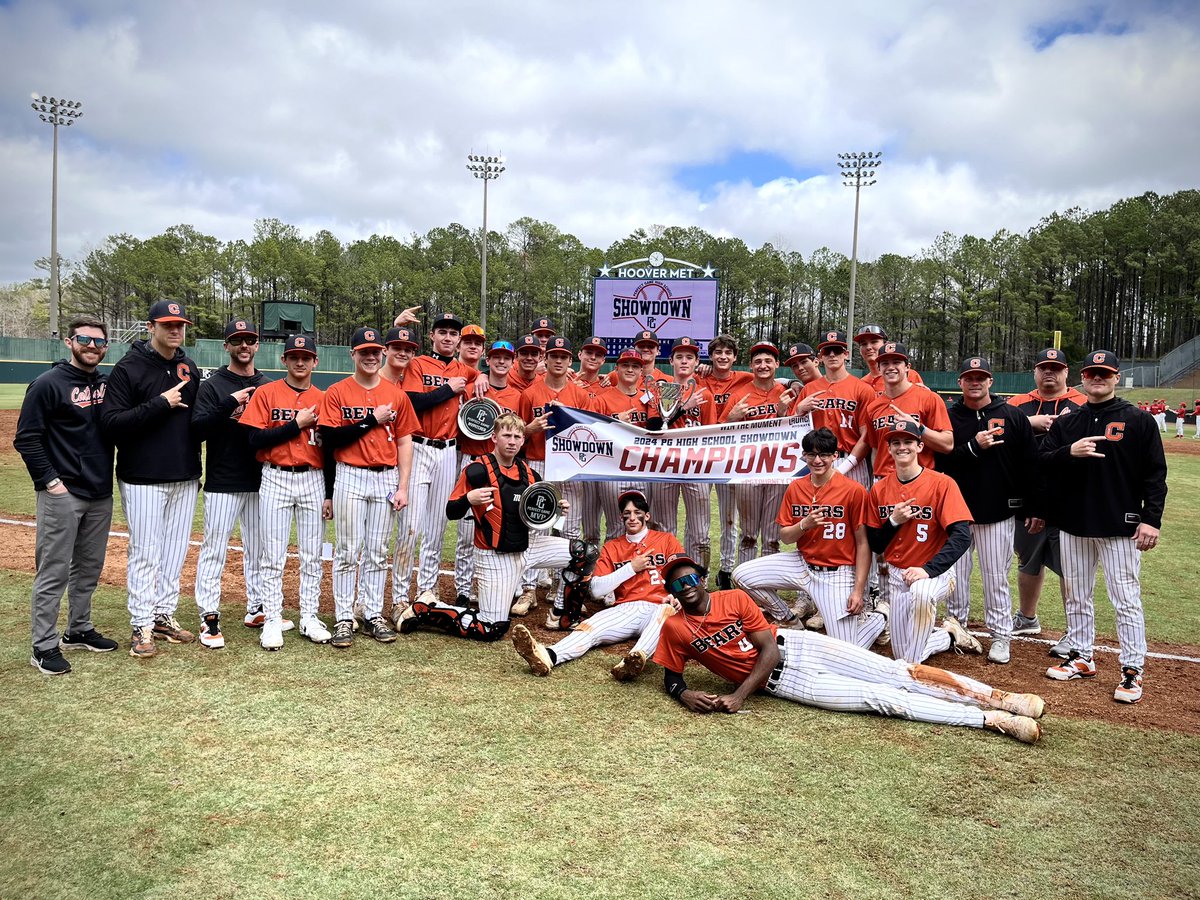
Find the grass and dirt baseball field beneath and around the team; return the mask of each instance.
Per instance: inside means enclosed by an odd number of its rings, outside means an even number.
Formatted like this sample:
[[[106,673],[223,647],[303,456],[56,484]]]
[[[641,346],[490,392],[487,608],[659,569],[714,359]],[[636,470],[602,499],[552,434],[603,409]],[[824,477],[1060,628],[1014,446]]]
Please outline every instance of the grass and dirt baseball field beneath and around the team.
[[[0,390],[0,406],[19,397]],[[658,667],[612,680],[607,653],[546,679],[508,641],[425,632],[344,653],[290,632],[269,654],[233,614],[232,564],[223,650],[132,660],[119,536],[95,622],[121,649],[47,678],[29,665],[34,492],[14,422],[0,412],[2,898],[1200,896],[1190,426],[1166,436],[1163,542],[1142,566],[1163,656],[1141,704],[1112,703],[1104,652],[1099,677],[1069,684],[1042,677],[1036,641],[1014,642],[1010,666],[934,660],[1043,692],[1028,746],[768,697],[696,716]],[[1061,634],[1052,578],[1042,620],[1043,638]],[[719,688],[700,670],[689,680]]]

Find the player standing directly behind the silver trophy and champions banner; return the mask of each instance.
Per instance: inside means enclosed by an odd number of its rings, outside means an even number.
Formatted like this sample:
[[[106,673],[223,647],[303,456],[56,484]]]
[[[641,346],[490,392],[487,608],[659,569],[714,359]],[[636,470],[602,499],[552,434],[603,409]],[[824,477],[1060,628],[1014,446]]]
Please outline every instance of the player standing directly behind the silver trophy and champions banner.
[[[686,404],[680,404],[673,420],[668,424],[671,428],[691,428],[716,424],[716,404],[713,403],[713,395],[695,379],[698,362],[700,344],[690,337],[678,338],[671,348],[673,380],[680,385],[683,391],[680,396],[685,396],[689,382],[695,382],[697,386]],[[654,499],[650,502],[650,521],[662,522],[665,523],[664,530],[676,532],[680,493],[683,494],[685,523],[684,546],[692,557],[702,559],[707,564],[710,524],[709,486],[707,484],[692,480],[656,484]]]

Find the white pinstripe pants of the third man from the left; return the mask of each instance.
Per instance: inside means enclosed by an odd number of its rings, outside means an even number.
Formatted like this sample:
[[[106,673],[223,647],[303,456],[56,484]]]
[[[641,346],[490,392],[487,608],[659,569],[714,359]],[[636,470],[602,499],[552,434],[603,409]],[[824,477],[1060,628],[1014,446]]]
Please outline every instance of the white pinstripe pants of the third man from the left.
[[[263,606],[262,528],[259,526],[259,494],[204,492],[204,542],[196,560],[196,606],[200,616],[216,612],[221,606],[221,574],[229,552],[229,535],[241,522],[241,572],[246,582],[246,610]]]

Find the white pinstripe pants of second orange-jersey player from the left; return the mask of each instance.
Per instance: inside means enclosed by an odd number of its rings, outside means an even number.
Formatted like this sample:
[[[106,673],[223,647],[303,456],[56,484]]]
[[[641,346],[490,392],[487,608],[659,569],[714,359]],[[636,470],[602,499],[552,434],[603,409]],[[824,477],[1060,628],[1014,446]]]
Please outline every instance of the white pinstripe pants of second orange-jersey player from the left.
[[[388,494],[396,488],[396,469],[337,463],[334,479],[334,608],[337,620],[353,619],[358,604],[368,619],[383,616],[388,577],[388,541],[394,512]],[[443,517],[443,522],[445,518]],[[361,557],[361,559],[360,559]],[[360,569],[361,564],[361,569]]]

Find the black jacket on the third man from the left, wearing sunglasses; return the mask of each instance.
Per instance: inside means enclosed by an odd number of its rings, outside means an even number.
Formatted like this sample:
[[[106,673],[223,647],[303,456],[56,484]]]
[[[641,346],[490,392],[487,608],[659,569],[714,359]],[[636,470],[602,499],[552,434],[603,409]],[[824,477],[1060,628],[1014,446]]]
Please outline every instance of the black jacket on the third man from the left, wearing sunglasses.
[[[258,388],[270,379],[256,370],[252,376],[234,374],[228,366],[200,383],[192,410],[192,433],[206,443],[204,490],[208,493],[247,493],[263,482],[263,463],[254,458],[250,431],[238,424],[245,404],[233,398],[242,388]]]

